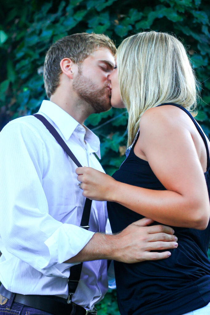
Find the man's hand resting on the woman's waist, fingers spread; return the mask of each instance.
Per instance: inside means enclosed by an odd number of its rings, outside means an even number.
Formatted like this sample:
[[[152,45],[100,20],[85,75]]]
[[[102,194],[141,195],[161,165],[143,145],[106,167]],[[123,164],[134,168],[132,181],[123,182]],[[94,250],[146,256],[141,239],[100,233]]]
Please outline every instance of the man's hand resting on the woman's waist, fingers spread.
[[[135,263],[168,258],[171,255],[169,251],[161,253],[150,251],[176,248],[177,237],[173,235],[174,231],[169,226],[147,226],[152,222],[147,218],[141,219],[115,235],[118,246],[112,252],[111,256],[114,257],[112,259]]]

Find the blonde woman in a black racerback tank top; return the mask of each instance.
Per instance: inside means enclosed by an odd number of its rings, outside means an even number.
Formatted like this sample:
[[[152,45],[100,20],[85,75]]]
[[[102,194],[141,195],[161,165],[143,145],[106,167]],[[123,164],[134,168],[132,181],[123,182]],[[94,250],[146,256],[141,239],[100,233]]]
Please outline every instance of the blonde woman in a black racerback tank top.
[[[120,313],[210,314],[210,143],[189,113],[196,79],[187,54],[175,37],[150,31],[126,38],[116,61],[111,105],[128,110],[127,158],[112,178],[78,168],[77,179],[84,196],[108,200],[114,233],[147,216],[173,226],[179,242],[167,260],[114,262]]]

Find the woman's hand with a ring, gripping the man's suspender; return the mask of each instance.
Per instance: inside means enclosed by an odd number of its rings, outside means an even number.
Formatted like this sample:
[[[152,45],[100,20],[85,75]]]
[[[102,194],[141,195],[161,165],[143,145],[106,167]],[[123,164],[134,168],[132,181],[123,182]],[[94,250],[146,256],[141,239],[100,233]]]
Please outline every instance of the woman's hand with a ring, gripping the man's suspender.
[[[82,182],[82,195],[91,200],[112,200],[117,181],[91,167],[78,167],[76,169],[77,180]]]

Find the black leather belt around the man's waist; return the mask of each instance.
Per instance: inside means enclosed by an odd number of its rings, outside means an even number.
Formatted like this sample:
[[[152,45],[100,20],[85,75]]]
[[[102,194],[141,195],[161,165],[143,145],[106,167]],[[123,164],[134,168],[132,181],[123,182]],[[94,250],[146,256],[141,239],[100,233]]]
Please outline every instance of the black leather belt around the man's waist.
[[[55,295],[22,295],[16,293],[14,302],[37,308],[54,315],[70,315],[73,309],[76,310],[76,312],[74,312],[76,315],[97,314],[96,309],[86,311],[82,306],[74,303],[67,304],[65,299]]]

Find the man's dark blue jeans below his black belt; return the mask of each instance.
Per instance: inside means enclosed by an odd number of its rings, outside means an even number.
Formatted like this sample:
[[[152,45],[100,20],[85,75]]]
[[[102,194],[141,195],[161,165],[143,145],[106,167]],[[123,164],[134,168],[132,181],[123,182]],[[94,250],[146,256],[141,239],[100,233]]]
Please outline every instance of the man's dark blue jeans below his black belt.
[[[10,299],[4,305],[0,305],[0,315],[53,315],[51,313],[40,311],[33,307],[13,302],[14,295],[15,294],[12,293]],[[2,299],[2,302],[3,301],[4,299]]]

